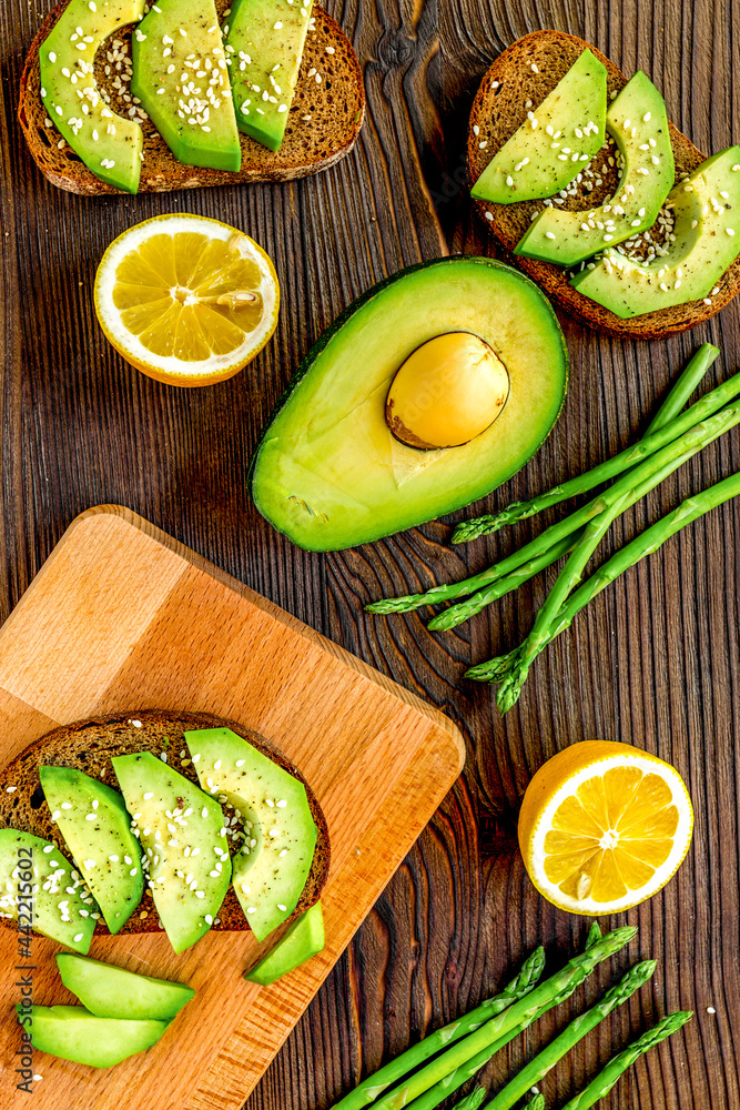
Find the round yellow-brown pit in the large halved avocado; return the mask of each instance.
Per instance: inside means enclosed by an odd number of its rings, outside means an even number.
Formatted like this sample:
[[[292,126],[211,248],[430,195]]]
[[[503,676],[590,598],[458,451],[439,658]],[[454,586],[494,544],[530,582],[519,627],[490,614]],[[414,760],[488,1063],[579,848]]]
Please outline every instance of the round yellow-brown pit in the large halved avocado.
[[[493,347],[470,332],[448,332],[423,343],[401,365],[385,420],[409,447],[458,447],[490,427],[508,395],[509,375]]]

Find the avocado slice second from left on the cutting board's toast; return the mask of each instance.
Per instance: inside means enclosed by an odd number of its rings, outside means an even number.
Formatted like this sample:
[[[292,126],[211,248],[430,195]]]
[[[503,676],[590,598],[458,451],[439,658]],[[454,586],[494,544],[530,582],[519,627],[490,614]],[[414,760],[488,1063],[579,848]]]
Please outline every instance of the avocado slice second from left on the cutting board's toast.
[[[57,827],[112,934],[125,925],[144,892],[141,848],[118,790],[73,767],[40,767]]]

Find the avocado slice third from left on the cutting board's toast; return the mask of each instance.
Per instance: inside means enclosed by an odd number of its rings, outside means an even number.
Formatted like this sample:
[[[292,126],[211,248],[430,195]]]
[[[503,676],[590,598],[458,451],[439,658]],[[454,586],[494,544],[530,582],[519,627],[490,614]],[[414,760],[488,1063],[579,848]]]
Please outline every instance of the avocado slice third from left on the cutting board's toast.
[[[151,751],[112,761],[145,854],[156,911],[182,952],[209,931],[229,889],[223,811]]]

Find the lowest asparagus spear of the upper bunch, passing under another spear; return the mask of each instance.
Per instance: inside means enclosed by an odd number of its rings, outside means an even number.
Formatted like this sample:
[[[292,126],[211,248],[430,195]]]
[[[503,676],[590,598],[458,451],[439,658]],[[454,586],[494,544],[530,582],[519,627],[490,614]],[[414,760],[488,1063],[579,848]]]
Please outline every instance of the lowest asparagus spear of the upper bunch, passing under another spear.
[[[618,578],[625,571],[647,555],[657,552],[671,536],[685,528],[687,524],[709,513],[712,508],[723,505],[724,502],[740,496],[740,472],[731,474],[716,485],[704,490],[703,493],[696,494],[682,502],[672,513],[663,516],[641,535],[636,536],[620,551],[611,556],[602,566],[588,578],[582,586],[579,586],[565,605],[560,608],[549,629],[549,637],[546,643],[551,643],[561,632],[569,628],[577,613],[588,605],[592,597],[600,594],[610,582]],[[546,646],[541,644],[540,650]],[[517,649],[515,649],[516,652]],[[497,683],[500,682],[510,666],[510,657],[515,653],[496,659],[488,659],[486,663],[478,663],[466,670],[466,678],[476,682]]]

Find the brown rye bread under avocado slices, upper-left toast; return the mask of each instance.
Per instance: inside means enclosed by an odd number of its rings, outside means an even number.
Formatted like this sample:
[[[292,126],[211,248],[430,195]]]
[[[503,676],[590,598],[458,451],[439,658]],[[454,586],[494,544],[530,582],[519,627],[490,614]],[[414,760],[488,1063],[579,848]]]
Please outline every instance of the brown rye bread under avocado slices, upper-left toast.
[[[65,7],[67,0],[63,0],[47,16],[31,44],[21,77],[18,119],[34,162],[52,184],[71,193],[91,196],[104,193],[126,195],[100,181],[57,128],[47,124],[47,110],[41,100],[39,49]],[[216,0],[220,17],[227,7],[229,0]],[[349,153],[365,113],[362,71],[352,44],[338,23],[318,6],[314,7],[314,16],[315,30],[306,36],[301,72],[280,151],[273,153],[243,134],[239,173],[184,165],[170,151],[154,124],[145,120],[141,124],[144,161],[140,193],[234,185],[247,181],[291,181],[326,170]],[[110,65],[107,54],[112,41],[119,40],[122,46],[116,49],[130,56],[131,30],[131,27],[122,29],[103,42],[95,58],[98,84],[109,93],[112,110],[126,117],[132,108],[131,102],[123,99],[124,94],[130,95],[128,85],[123,84],[121,89],[115,87],[120,72],[115,64]],[[327,53],[327,50],[331,52]],[[109,74],[105,73],[107,65],[111,70]],[[308,77],[312,69],[314,74]],[[321,82],[316,81],[316,74],[322,78]]]

